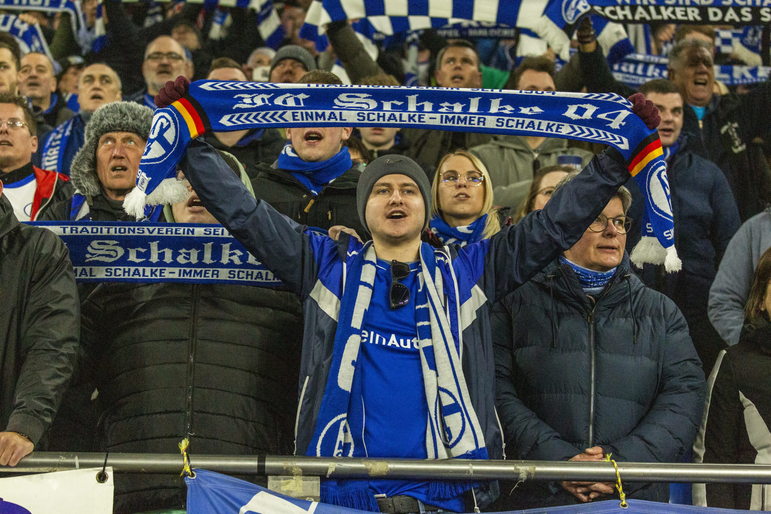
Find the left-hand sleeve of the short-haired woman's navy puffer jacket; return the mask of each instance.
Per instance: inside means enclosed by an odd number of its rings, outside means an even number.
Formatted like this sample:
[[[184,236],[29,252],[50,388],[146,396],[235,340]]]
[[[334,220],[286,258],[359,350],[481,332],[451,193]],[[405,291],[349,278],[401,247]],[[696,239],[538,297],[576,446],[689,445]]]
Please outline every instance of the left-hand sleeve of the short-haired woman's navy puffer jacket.
[[[514,364],[511,318],[518,305],[512,305],[512,296],[493,305],[490,331],[493,334],[495,354],[496,408],[510,459],[568,460],[581,453],[517,398],[517,369]],[[520,297],[517,295],[517,299]],[[519,300],[517,300],[519,301]],[[505,448],[504,448],[505,449]]]

